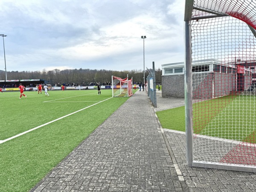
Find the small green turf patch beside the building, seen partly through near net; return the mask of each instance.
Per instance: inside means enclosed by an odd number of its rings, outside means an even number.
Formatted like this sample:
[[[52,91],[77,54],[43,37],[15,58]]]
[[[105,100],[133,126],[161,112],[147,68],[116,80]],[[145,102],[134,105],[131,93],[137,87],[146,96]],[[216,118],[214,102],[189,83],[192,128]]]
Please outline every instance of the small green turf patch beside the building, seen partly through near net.
[[[211,137],[256,143],[255,96],[224,96],[194,103],[193,132]],[[158,111],[163,128],[186,131],[185,107]]]

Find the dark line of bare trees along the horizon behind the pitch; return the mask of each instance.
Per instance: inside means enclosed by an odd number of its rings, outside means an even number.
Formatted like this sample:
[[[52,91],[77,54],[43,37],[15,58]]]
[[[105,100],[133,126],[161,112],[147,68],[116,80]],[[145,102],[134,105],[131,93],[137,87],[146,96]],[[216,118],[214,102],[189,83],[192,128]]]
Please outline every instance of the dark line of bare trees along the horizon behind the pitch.
[[[143,82],[143,70],[91,70],[91,69],[74,69],[74,70],[43,70],[43,71],[11,71],[7,72],[7,79],[44,79],[55,83],[90,83],[90,82],[111,82],[111,76],[117,76],[126,78],[128,74],[129,78],[133,78],[134,82]],[[162,81],[162,70],[157,69],[155,71],[156,83],[159,84]],[[148,70],[145,70],[145,81],[148,76]],[[6,79],[5,71],[0,70],[0,80]]]

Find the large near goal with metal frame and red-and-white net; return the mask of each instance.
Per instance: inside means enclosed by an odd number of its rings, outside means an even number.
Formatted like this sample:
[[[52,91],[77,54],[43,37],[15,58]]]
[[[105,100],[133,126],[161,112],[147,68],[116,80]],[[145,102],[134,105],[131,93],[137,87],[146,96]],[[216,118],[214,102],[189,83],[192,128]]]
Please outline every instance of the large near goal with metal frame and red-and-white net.
[[[256,172],[256,1],[186,0],[187,164]]]

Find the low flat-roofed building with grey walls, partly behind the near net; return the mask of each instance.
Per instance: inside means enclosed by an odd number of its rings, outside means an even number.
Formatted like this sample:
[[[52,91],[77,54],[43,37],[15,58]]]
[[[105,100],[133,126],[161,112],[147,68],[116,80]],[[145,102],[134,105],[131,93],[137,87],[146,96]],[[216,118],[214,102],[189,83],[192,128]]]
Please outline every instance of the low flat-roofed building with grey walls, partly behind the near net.
[[[184,62],[162,64],[163,97],[184,97],[184,72]],[[194,98],[229,95],[230,92],[247,90],[251,83],[250,68],[245,67],[242,62],[224,63],[214,59],[192,62]]]

